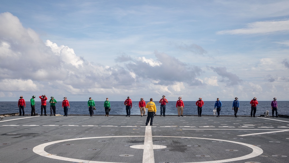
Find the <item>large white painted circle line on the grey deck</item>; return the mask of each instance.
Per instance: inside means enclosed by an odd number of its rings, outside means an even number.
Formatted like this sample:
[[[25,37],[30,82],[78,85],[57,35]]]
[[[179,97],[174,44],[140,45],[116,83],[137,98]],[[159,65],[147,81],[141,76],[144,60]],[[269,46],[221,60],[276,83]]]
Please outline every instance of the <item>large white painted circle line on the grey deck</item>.
[[[71,162],[112,163],[112,162],[79,160],[79,159],[73,159],[73,158],[67,158],[67,157],[60,157],[60,156],[57,156],[57,155],[51,155],[50,153],[47,153],[44,150],[44,148],[46,146],[51,145],[51,144],[60,143],[60,142],[66,142],[66,141],[72,141],[72,140],[97,139],[97,138],[124,138],[124,137],[144,137],[144,136],[101,136],[101,137],[75,138],[75,139],[58,140],[58,141],[47,142],[47,143],[35,146],[33,148],[33,152],[38,154],[38,155],[45,156],[45,157],[48,157],[48,158],[53,158],[53,159],[57,159],[57,160],[71,161]],[[225,159],[225,160],[205,161],[205,162],[202,162],[202,163],[216,163],[216,162],[221,163],[221,162],[231,162],[231,161],[245,160],[245,159],[256,157],[256,156],[261,155],[263,153],[263,150],[261,148],[257,147],[257,146],[254,146],[254,145],[251,145],[251,144],[246,144],[246,143],[241,143],[241,142],[234,142],[234,141],[230,141],[230,140],[220,140],[220,139],[210,139],[210,138],[194,138],[194,137],[183,137],[183,136],[153,136],[153,137],[192,138],[192,139],[215,140],[215,141],[223,141],[223,142],[231,142],[231,143],[241,144],[241,145],[244,145],[244,146],[247,146],[247,147],[253,149],[252,153],[250,153],[248,155],[241,156],[241,157]],[[187,162],[187,163],[201,163],[201,162]]]

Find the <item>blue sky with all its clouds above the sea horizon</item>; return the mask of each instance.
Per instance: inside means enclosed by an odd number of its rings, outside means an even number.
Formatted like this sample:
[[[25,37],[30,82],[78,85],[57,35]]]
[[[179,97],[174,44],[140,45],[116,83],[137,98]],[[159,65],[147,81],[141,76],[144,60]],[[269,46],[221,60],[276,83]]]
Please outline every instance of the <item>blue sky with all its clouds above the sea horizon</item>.
[[[288,92],[288,0],[0,3],[0,101],[287,101]]]

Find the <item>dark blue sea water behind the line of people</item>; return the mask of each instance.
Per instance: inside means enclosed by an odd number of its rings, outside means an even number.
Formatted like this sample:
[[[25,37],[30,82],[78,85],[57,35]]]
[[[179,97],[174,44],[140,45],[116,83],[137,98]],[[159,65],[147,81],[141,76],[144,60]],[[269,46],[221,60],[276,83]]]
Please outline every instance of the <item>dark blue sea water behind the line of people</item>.
[[[140,110],[138,107],[139,101],[133,101],[133,106],[131,109],[131,115],[140,115]],[[147,102],[147,101],[146,101]],[[256,116],[260,116],[264,111],[269,110],[269,115],[271,112],[271,101],[258,101]],[[95,101],[96,110],[94,114],[105,114],[103,108],[104,101]],[[126,115],[125,105],[123,101],[110,101],[111,105],[111,115]],[[213,115],[213,109],[215,101],[204,101],[202,115]],[[18,113],[19,108],[17,107],[18,101],[15,102],[1,102],[0,101],[0,114],[6,113]],[[68,109],[68,114],[89,114],[87,101],[70,101],[70,109]],[[157,107],[157,115],[160,115],[160,103],[155,102]],[[233,101],[222,101],[221,115],[234,115],[234,110],[232,110]],[[196,101],[184,101],[184,115],[198,115]],[[177,115],[176,101],[169,101],[166,106],[166,115]],[[36,113],[40,114],[41,102],[36,101],[35,110]],[[26,102],[25,114],[31,113],[30,101]],[[250,101],[240,101],[240,109],[238,115],[250,115],[251,104]],[[50,105],[47,105],[47,114],[50,114]],[[62,109],[62,102],[56,104],[56,114],[64,115]],[[278,101],[278,114],[289,115],[289,101]]]

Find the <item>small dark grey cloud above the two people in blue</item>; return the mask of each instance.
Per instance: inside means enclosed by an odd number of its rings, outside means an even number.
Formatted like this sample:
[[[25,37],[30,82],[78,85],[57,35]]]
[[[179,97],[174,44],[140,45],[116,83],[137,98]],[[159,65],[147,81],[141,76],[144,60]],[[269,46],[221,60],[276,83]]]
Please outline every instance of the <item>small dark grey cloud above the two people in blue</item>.
[[[226,67],[210,67],[214,72],[222,77],[220,82],[225,82],[229,86],[238,85],[242,80],[231,72],[227,72]]]

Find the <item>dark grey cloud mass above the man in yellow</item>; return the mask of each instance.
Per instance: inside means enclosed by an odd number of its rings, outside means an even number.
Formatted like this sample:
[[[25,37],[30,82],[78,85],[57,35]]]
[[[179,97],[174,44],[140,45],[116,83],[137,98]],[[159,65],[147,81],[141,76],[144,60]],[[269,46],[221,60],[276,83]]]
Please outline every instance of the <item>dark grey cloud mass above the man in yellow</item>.
[[[174,85],[176,82],[185,82],[190,85],[201,85],[196,77],[202,70],[197,66],[188,65],[179,61],[177,58],[158,51],[154,52],[160,64],[151,66],[146,60],[135,60],[128,63],[127,69],[134,71],[135,74],[145,80],[159,80],[161,85]]]

